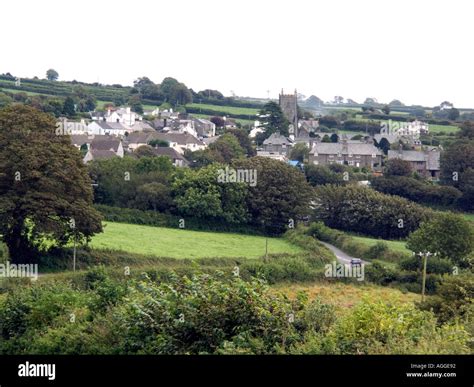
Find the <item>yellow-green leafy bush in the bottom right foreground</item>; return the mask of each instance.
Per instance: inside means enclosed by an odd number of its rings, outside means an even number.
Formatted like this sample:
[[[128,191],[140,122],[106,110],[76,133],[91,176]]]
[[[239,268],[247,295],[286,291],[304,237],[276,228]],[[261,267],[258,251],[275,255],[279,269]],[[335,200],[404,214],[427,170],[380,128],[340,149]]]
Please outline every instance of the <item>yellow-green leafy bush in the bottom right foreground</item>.
[[[431,313],[413,305],[368,300],[340,319],[325,340],[339,354],[469,353],[469,335],[463,327],[437,328]]]

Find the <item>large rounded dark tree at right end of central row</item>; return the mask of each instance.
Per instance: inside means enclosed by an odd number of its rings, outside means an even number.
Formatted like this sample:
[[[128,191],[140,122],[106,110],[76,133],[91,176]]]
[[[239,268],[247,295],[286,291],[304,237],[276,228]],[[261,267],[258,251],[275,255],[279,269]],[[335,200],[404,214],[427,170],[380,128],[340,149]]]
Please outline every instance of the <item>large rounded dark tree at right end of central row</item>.
[[[234,168],[255,170],[257,184],[248,188],[251,223],[280,234],[309,214],[311,187],[296,168],[266,157],[235,160]]]

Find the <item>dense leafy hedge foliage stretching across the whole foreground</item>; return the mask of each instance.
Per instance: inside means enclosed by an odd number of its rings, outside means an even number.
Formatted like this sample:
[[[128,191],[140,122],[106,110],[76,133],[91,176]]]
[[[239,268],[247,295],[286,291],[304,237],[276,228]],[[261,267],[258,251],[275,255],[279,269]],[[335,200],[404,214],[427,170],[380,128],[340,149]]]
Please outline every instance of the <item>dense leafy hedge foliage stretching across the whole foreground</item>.
[[[2,354],[468,353],[461,324],[431,312],[363,300],[335,307],[289,300],[261,280],[201,274],[158,283],[112,280],[101,269],[81,286],[44,283],[0,298]]]

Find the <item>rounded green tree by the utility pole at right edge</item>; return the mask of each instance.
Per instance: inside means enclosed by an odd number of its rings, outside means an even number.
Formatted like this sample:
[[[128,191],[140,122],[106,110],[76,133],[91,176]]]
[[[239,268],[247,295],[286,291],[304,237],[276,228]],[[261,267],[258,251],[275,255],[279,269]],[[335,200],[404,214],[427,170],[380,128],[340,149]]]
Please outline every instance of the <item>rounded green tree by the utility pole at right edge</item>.
[[[441,258],[466,266],[466,257],[474,249],[474,231],[462,216],[440,213],[410,234],[407,247],[415,253],[438,253]]]

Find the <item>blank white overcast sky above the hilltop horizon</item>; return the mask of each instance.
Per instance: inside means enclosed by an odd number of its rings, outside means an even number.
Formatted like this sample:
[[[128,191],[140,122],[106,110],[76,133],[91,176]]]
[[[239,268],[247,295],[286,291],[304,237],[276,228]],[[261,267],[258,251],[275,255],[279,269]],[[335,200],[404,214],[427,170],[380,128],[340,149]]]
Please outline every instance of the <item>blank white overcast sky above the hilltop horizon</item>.
[[[0,73],[474,107],[471,0],[4,0]]]

